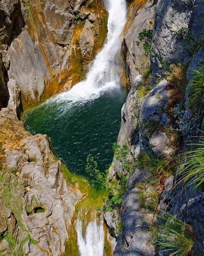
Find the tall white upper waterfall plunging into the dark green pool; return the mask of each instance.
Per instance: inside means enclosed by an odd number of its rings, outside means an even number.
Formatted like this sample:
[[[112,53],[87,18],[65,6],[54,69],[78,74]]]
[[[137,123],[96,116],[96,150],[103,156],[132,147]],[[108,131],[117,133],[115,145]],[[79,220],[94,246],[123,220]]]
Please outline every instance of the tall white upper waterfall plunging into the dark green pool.
[[[125,0],[104,0],[104,4],[109,16],[107,41],[102,51],[96,55],[86,80],[50,99],[51,101],[65,101],[66,106],[71,107],[73,104],[96,99],[107,90],[119,86],[116,55],[121,49],[121,32],[126,22],[127,6]]]

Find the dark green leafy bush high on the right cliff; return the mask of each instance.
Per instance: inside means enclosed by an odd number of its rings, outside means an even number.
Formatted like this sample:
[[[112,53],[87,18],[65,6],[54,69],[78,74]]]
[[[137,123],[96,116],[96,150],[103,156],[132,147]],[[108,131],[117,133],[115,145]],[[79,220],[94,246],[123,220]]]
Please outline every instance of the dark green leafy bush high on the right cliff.
[[[139,32],[138,41],[136,41],[136,45],[139,46],[142,43],[142,48],[145,51],[145,56],[149,57],[150,55],[150,48],[151,48],[151,41],[153,37],[153,29],[143,29]]]

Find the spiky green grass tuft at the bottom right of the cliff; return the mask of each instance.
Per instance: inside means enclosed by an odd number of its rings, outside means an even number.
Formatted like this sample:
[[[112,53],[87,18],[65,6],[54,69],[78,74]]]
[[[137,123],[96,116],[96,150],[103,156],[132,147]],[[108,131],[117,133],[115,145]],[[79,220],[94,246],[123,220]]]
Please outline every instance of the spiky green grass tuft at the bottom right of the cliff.
[[[163,212],[164,213],[164,212]],[[159,217],[155,228],[151,228],[158,252],[168,252],[170,256],[189,256],[193,247],[193,230],[189,224],[171,214]]]

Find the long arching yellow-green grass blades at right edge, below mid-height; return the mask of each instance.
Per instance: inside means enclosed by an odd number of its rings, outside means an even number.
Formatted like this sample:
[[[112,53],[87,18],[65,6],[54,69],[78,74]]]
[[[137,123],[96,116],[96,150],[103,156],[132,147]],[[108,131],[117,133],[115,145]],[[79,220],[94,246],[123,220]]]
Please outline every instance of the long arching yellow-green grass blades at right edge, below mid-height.
[[[178,167],[182,170],[178,173],[180,178],[176,185],[186,182],[187,186],[196,184],[196,187],[201,187],[204,184],[204,138],[189,145],[194,148],[179,156]]]

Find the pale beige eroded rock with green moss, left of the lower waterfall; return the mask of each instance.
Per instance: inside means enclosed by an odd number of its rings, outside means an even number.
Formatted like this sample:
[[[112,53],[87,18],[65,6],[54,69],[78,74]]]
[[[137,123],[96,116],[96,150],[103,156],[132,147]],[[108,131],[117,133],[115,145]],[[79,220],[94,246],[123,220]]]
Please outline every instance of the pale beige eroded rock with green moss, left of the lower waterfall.
[[[0,112],[0,130],[0,253],[60,255],[82,195],[68,185],[46,135],[28,134],[9,109]]]

